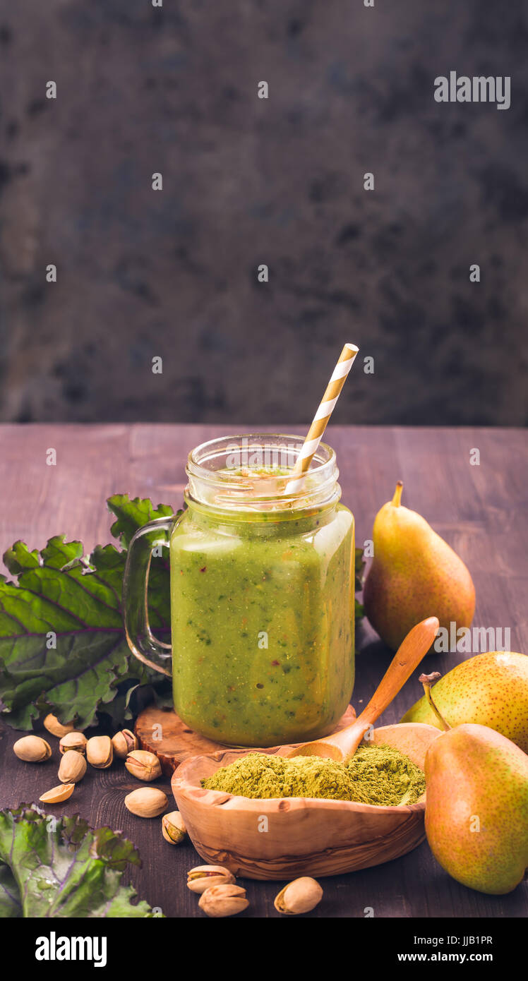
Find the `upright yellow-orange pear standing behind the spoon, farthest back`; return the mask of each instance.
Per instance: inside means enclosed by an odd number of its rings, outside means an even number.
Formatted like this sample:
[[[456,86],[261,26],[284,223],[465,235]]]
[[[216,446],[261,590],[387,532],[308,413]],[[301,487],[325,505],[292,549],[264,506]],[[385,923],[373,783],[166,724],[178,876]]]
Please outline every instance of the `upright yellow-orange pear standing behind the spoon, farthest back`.
[[[401,481],[374,522],[374,558],[363,602],[374,630],[396,650],[411,627],[438,616],[449,631],[469,627],[475,588],[469,572],[425,518],[400,504]]]

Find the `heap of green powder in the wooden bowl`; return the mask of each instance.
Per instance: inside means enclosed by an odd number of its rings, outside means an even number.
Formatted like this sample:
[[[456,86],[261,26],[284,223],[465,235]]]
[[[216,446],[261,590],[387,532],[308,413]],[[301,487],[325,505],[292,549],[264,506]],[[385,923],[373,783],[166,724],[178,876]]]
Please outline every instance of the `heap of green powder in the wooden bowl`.
[[[203,780],[202,787],[248,798],[328,798],[389,806],[415,803],[425,791],[425,777],[393,747],[360,746],[347,763],[248,752]]]

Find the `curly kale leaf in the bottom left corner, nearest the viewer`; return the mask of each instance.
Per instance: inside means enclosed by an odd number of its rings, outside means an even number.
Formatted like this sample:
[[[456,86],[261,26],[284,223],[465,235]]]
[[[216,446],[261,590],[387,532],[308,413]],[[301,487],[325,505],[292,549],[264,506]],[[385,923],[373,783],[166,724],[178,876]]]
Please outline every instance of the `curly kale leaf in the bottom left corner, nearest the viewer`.
[[[0,810],[1,917],[149,917],[122,886],[138,852],[121,832],[91,831],[86,821],[53,817],[22,804]]]

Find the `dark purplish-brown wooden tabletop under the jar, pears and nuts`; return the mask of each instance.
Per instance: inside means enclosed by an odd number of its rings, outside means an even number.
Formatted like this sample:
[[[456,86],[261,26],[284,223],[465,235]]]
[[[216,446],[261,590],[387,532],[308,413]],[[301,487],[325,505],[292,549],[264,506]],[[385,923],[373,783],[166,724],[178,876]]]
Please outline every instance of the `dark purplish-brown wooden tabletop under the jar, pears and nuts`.
[[[302,434],[298,427],[284,432]],[[233,427],[233,432],[244,432]],[[214,426],[168,425],[6,425],[0,427],[2,506],[0,549],[23,539],[42,547],[60,532],[81,539],[86,549],[110,541],[111,516],[105,498],[115,492],[149,496],[155,503],[182,501],[185,457],[196,444],[221,436]],[[528,454],[526,433],[504,429],[405,429],[332,426],[329,441],[338,452],[343,503],[356,519],[356,542],[371,537],[379,507],[396,480],[403,503],[426,517],[459,552],[472,573],[477,605],[475,626],[509,627],[511,649],[528,652]],[[46,465],[46,450],[57,465]],[[480,451],[480,464],[470,452]],[[473,454],[475,455],[475,454]],[[4,570],[5,571],[5,570]],[[357,631],[356,687],[360,709],[374,692],[391,654],[363,624]],[[462,654],[435,654],[428,669],[449,671]],[[418,672],[385,712],[381,724],[396,722],[420,697]],[[4,717],[5,719],[5,717]],[[0,739],[0,806],[37,800],[42,767],[20,762],[10,747],[21,734],[4,723]],[[50,739],[55,749],[56,740]],[[56,753],[54,752],[56,758]],[[56,762],[43,764],[57,781]],[[160,783],[160,786],[163,784]],[[158,821],[141,820],[125,808],[125,792],[136,781],[122,766],[91,770],[66,813],[80,811],[93,827],[123,829],[138,847],[142,868],[132,872],[139,896],[167,916],[201,916],[197,898],[185,887],[185,871],[201,859],[190,844],[176,848],[162,840]],[[167,783],[168,787],[168,783]],[[277,916],[273,900],[281,884],[246,881],[250,901],[243,916]],[[520,917],[528,914],[528,881],[503,897],[484,896],[458,885],[434,860],[426,843],[376,868],[323,881],[319,917],[375,916]]]

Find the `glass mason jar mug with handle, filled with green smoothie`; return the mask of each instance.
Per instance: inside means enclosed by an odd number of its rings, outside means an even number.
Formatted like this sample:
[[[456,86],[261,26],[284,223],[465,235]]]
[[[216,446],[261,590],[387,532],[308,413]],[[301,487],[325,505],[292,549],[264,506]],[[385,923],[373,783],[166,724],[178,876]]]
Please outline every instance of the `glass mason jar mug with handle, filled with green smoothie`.
[[[186,508],[134,535],[127,639],[172,677],[195,732],[271,747],[332,732],[354,681],[354,519],[336,454],[320,443],[291,486],[298,437],[212,439],[188,456]],[[170,547],[172,644],[148,625],[150,556]]]

